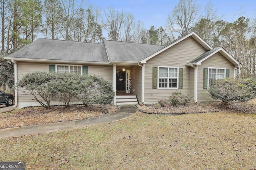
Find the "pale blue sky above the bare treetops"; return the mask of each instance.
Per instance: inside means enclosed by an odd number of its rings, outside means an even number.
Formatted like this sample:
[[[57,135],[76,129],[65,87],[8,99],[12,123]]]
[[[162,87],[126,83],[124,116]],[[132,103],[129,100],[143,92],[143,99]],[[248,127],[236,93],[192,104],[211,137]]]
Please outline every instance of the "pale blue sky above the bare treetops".
[[[130,12],[136,20],[141,20],[144,27],[149,29],[154,25],[155,28],[166,25],[166,18],[171,14],[172,9],[179,0],[90,0],[91,4],[101,7],[102,10],[108,10],[110,6],[117,10]],[[198,0],[201,12],[208,0]],[[222,20],[232,22],[240,16],[246,18],[256,18],[256,0],[212,0],[214,9],[217,8]]]

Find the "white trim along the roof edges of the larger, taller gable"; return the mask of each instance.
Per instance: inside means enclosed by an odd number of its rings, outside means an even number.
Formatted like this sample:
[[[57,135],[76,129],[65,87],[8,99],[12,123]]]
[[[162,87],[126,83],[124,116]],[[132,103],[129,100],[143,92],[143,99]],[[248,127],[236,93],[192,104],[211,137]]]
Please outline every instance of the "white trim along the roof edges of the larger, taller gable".
[[[192,36],[198,43],[200,43],[206,50],[212,50],[212,47],[210,45],[208,45],[201,37],[199,37],[194,31],[185,35],[184,37],[181,37],[180,39],[177,39],[176,41],[174,41],[173,43],[166,45],[165,47],[163,47],[162,49],[160,49],[159,51],[157,51],[156,53],[142,59],[141,61],[138,61],[138,63],[147,63],[147,61],[149,59],[151,59],[152,57],[155,57],[156,55],[162,53],[163,51],[165,51],[166,49],[169,49],[170,47],[176,45],[177,43],[183,41],[184,39],[188,38]]]

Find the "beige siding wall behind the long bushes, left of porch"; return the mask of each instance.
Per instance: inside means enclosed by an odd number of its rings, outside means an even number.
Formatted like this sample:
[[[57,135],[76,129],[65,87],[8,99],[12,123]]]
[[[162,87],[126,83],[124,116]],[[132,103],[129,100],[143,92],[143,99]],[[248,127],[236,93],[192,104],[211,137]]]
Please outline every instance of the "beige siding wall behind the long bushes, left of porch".
[[[61,64],[61,63],[60,63]],[[49,71],[49,65],[55,65],[55,63],[27,63],[27,62],[17,62],[17,73],[18,80],[22,78],[22,75],[29,72],[39,71]],[[72,65],[72,63],[70,63]],[[75,64],[77,65],[77,64]],[[84,65],[84,64],[81,64]],[[104,79],[112,82],[112,66],[100,66],[100,65],[85,65],[88,66],[88,74],[98,75]],[[25,95],[23,92],[18,90],[18,102],[31,102],[31,98]]]

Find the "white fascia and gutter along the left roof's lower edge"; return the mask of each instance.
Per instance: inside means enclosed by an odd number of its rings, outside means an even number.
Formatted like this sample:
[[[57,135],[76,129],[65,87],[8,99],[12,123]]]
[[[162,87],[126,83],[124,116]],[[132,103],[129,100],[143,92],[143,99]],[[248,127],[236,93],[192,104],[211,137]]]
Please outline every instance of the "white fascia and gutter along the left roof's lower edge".
[[[28,62],[38,62],[38,63],[75,63],[75,64],[98,64],[98,65],[112,65],[107,62],[90,62],[90,61],[68,61],[68,60],[48,60],[48,59],[28,59],[28,58],[11,58],[5,57],[5,60],[15,60],[15,61],[28,61]]]

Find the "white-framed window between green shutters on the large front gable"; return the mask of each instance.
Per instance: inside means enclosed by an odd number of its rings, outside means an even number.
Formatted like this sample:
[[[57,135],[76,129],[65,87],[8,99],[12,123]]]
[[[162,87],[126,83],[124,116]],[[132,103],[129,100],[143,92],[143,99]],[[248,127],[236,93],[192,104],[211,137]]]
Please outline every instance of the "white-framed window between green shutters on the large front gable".
[[[178,67],[158,66],[158,88],[178,89]]]

